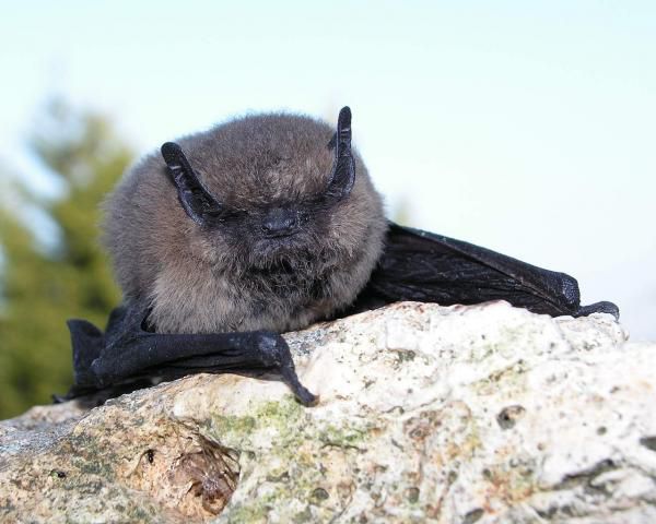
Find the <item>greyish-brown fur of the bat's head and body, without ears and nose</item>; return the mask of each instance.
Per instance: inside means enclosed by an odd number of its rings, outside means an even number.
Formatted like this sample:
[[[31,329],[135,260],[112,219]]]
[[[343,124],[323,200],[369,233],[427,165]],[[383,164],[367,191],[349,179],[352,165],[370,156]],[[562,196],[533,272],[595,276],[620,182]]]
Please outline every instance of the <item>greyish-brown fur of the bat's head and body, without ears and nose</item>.
[[[354,152],[355,184],[331,206],[333,129],[303,116],[249,116],[178,141],[212,195],[243,219],[202,228],[184,211],[161,155],[129,169],[106,202],[105,245],[128,300],[160,333],[305,327],[349,306],[380,255],[380,196]],[[258,236],[263,210],[304,210],[280,243]]]

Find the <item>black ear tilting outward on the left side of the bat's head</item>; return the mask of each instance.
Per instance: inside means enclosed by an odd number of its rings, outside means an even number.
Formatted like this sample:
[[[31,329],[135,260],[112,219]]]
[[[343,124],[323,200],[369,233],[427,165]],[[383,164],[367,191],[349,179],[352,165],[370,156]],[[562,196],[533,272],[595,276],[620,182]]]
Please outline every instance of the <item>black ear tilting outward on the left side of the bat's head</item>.
[[[210,225],[222,214],[223,206],[202,184],[183,148],[175,142],[166,142],[162,145],[162,157],[187,214],[200,226]]]

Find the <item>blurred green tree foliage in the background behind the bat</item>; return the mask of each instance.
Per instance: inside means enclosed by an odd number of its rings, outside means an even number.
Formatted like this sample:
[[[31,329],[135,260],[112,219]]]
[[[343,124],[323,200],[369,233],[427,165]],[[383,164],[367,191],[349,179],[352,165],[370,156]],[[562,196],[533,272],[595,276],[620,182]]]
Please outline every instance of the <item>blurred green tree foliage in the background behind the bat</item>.
[[[130,148],[107,118],[61,102],[47,106],[30,146],[63,191],[45,198],[15,181],[12,201],[0,202],[0,418],[66,392],[66,320],[104,325],[120,298],[98,242],[98,205],[131,160]],[[37,241],[45,216],[58,231],[47,246]]]

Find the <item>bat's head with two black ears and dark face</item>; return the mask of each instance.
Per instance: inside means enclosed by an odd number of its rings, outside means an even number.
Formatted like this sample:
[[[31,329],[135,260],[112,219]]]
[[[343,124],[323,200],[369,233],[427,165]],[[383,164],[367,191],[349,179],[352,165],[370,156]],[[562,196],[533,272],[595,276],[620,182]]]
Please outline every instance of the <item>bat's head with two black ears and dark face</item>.
[[[162,156],[186,218],[214,246],[208,255],[227,252],[222,263],[239,270],[296,271],[359,251],[379,205],[356,167],[348,107],[337,131],[306,117],[246,117],[167,142]]]

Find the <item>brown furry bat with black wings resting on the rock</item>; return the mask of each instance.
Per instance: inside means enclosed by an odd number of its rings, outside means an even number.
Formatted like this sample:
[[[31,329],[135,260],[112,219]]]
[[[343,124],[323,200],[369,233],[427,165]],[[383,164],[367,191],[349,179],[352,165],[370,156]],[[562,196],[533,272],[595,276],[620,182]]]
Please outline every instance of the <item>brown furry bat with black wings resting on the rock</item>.
[[[619,315],[611,302],[581,306],[564,273],[388,222],[351,135],[348,107],[337,131],[305,116],[247,116],[129,169],[104,224],[124,301],[105,332],[68,322],[65,398],[154,377],[269,371],[313,405],[281,333],[399,300]]]

